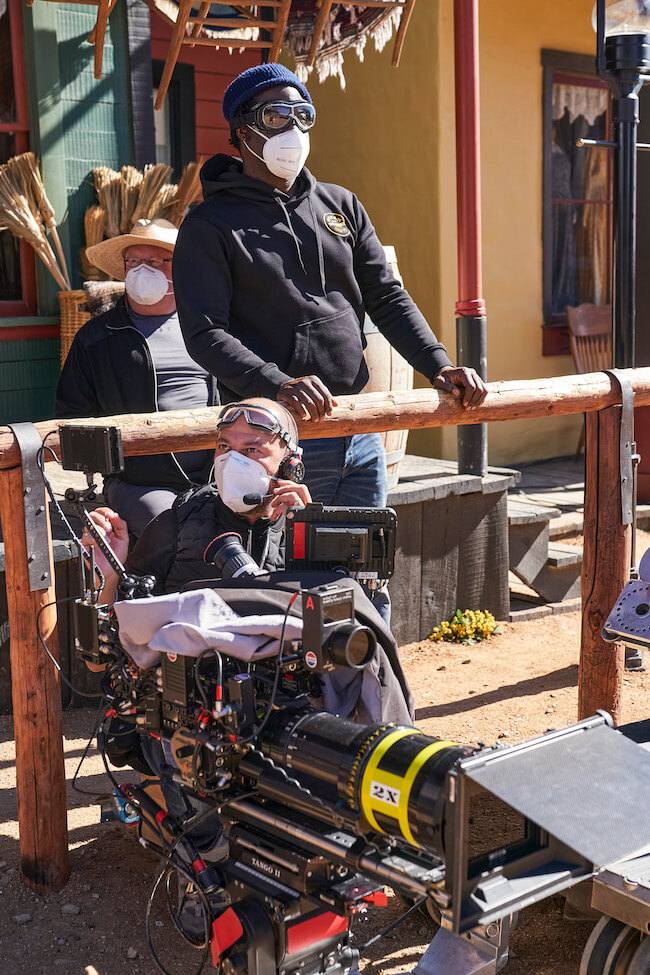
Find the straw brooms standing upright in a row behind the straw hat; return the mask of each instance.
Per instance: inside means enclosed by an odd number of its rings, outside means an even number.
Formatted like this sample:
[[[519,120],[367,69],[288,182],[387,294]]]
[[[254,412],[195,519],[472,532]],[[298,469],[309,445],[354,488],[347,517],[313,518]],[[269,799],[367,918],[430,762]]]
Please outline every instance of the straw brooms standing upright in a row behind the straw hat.
[[[108,166],[97,166],[93,178],[99,203],[88,207],[84,215],[86,247],[128,234],[142,219],[164,217],[179,227],[188,206],[198,196],[200,167],[200,161],[190,163],[176,184],[168,182],[172,168],[164,163],[145,166],[144,172],[134,166],[122,166],[120,173]],[[85,248],[81,252],[81,269],[87,280],[106,278],[88,261]]]

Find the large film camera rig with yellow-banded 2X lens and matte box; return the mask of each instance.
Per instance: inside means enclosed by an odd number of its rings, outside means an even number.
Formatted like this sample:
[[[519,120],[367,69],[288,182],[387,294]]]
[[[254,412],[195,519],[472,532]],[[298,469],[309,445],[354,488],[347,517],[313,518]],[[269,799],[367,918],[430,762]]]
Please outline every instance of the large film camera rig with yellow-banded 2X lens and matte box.
[[[361,524],[353,514],[296,512],[289,564],[331,568],[337,539],[335,565],[390,575],[391,513]],[[363,668],[373,655],[374,634],[355,621],[354,584],[339,576],[301,587],[295,571],[263,577],[232,536],[211,557],[230,576],[215,583],[226,602],[233,592],[241,600],[247,589],[256,598],[269,590],[284,594],[288,614],[300,596],[302,641],[287,652],[281,639],[277,658],[245,670],[213,651],[166,654],[141,670],[120,643],[115,611],[94,592],[77,606],[79,651],[107,665],[99,739],[109,757],[127,764],[138,741],[157,739],[178,786],[226,829],[228,858],[206,863],[192,841],[196,821],[175,820],[141,786],[120,786],[121,800],[157,832],[170,869],[194,886],[202,932],[170,911],[202,950],[202,965],[211,954],[225,975],[347,975],[359,957],[350,918],[380,902],[387,885],[442,922],[418,972],[493,975],[507,960],[508,926],[521,907],[647,845],[629,814],[643,801],[650,759],[643,765],[606,716],[514,747],[474,749],[315,710],[315,678]],[[145,595],[147,585],[130,580],[126,590]],[[604,821],[592,816],[585,831],[570,813],[576,776],[581,803],[602,807],[595,765],[613,792]],[[613,813],[625,830],[612,828]],[[168,892],[169,876],[159,878]]]

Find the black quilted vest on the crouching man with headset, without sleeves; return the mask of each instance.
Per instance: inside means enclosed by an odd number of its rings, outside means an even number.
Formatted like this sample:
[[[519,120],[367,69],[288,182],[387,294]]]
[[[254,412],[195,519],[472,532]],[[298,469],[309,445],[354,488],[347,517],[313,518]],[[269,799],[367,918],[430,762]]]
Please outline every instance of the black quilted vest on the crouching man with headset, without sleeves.
[[[176,515],[176,552],[167,579],[166,592],[180,592],[197,579],[217,579],[214,565],[203,556],[213,538],[223,532],[236,532],[242,545],[262,569],[273,571],[284,566],[284,518],[260,518],[251,525],[227,508],[212,484],[180,495],[173,505]]]

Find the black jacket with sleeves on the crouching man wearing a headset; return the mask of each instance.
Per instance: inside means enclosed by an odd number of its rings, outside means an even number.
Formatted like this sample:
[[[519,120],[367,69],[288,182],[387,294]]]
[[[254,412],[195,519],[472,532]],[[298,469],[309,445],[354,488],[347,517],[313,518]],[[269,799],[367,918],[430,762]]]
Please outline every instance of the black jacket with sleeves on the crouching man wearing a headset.
[[[213,484],[182,494],[150,522],[130,553],[126,568],[156,578],[154,595],[179,592],[197,579],[214,580],[219,572],[203,555],[210,542],[236,532],[257,564],[269,571],[284,566],[284,518],[260,518],[251,525],[227,508]]]

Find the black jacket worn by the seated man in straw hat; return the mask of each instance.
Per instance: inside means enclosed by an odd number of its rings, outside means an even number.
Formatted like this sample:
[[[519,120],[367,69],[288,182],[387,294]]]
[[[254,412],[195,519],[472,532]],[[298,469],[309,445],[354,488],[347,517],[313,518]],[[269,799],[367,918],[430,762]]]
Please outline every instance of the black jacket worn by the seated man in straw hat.
[[[218,402],[211,384],[210,405]],[[56,390],[55,416],[112,416],[155,413],[156,377],[149,347],[131,324],[126,299],[87,322],[74,337]],[[202,480],[208,479],[213,454],[205,451]],[[173,454],[125,457],[121,475],[130,484],[186,490],[190,480]]]

